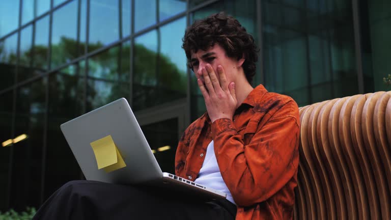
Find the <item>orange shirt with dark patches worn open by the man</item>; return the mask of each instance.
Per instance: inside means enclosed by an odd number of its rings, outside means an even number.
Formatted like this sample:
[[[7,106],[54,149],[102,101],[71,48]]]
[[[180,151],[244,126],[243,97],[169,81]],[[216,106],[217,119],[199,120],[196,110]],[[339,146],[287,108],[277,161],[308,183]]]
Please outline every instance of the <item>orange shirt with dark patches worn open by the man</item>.
[[[237,205],[236,219],[292,219],[299,127],[296,102],[260,85],[236,109],[233,120],[211,123],[205,113],[185,130],[175,173],[194,181],[213,140],[221,176]]]

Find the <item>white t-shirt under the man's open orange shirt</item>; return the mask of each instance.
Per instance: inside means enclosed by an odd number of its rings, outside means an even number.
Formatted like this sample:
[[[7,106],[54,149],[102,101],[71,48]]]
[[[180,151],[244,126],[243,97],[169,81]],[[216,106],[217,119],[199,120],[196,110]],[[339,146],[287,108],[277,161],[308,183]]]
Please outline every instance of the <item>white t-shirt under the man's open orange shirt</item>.
[[[227,200],[236,205],[230,190],[222,179],[220,169],[218,168],[216,155],[214,154],[213,140],[209,143],[208,148],[206,149],[204,163],[202,164],[200,173],[194,182],[226,193]]]

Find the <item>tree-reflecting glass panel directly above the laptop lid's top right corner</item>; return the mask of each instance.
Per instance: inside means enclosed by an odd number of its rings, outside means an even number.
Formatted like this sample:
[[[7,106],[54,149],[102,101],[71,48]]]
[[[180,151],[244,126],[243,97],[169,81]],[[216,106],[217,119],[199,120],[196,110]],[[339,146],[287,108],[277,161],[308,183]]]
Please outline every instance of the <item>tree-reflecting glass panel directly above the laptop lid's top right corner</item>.
[[[87,111],[91,111],[111,101],[129,96],[129,44],[110,48],[89,59],[89,80],[87,88]],[[126,53],[127,51],[127,53]],[[123,56],[123,57],[122,57]],[[119,60],[119,58],[121,59]],[[124,63],[124,72],[119,73],[119,63]]]

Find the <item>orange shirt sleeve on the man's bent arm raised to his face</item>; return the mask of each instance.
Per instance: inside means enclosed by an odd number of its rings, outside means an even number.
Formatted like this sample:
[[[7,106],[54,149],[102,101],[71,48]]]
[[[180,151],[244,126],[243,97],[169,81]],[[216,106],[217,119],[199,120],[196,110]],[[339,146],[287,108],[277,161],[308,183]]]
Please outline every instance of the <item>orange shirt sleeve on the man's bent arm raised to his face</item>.
[[[257,128],[247,145],[231,119],[213,122],[217,163],[238,206],[267,200],[295,175],[298,167],[298,114],[297,105],[288,102]]]

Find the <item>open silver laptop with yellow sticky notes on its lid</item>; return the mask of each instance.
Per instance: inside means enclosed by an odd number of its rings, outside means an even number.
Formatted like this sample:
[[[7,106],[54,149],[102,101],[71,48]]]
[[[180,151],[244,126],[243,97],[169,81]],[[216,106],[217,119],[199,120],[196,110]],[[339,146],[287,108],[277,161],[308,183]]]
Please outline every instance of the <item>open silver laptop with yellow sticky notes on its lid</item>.
[[[168,187],[210,199],[227,196],[210,187],[163,173],[125,98],[68,121],[61,125],[61,130],[87,180]],[[118,150],[117,157],[113,153],[113,143]],[[108,158],[113,157],[117,158],[117,163],[106,166],[112,163],[107,163]]]

